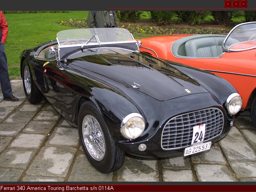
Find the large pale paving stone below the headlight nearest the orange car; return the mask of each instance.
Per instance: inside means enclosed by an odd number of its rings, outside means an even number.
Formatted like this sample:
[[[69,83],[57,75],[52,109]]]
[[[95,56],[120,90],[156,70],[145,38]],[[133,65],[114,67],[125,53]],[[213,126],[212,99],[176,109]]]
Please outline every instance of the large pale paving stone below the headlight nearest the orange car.
[[[248,145],[242,134],[233,126],[228,135],[219,142],[222,151],[229,161],[256,160],[254,150]]]

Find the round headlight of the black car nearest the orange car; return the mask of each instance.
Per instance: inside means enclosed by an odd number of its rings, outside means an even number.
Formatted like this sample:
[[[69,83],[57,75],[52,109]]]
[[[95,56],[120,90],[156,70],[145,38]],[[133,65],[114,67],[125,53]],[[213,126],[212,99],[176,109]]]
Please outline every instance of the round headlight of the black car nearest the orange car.
[[[238,93],[231,94],[226,100],[226,107],[230,115],[237,114],[242,107],[242,98]]]

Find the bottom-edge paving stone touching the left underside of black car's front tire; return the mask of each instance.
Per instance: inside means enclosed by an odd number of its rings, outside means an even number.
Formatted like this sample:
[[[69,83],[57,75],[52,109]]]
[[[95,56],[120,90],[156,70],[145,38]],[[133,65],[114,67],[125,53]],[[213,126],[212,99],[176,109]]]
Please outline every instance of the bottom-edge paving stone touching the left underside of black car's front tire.
[[[101,173],[88,162],[84,154],[79,154],[68,178],[68,182],[111,182],[113,173]]]

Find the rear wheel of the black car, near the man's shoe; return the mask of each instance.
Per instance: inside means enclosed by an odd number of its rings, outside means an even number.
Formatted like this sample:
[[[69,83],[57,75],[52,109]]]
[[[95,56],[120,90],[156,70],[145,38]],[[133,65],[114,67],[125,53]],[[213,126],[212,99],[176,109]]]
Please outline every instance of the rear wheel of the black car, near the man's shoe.
[[[31,103],[39,103],[42,101],[42,93],[34,83],[28,60],[24,60],[22,65],[22,82],[26,98]]]

